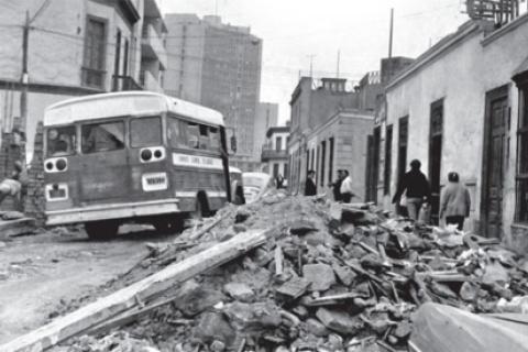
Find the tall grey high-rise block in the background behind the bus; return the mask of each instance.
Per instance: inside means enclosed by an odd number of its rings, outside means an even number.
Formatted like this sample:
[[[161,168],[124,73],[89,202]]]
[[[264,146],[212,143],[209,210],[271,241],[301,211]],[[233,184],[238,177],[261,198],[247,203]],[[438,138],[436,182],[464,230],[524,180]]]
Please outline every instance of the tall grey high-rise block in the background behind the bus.
[[[166,94],[223,113],[228,134],[237,140],[231,158],[243,170],[257,168],[254,143],[260,100],[262,41],[250,28],[222,23],[216,15],[170,13]],[[265,133],[265,132],[264,132]]]

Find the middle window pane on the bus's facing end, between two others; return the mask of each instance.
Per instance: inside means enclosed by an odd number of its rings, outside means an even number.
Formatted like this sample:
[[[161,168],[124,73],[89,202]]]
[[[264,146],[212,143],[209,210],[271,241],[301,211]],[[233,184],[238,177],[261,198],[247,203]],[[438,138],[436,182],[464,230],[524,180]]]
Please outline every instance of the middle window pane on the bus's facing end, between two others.
[[[82,153],[109,152],[124,148],[122,121],[85,124],[81,128]]]

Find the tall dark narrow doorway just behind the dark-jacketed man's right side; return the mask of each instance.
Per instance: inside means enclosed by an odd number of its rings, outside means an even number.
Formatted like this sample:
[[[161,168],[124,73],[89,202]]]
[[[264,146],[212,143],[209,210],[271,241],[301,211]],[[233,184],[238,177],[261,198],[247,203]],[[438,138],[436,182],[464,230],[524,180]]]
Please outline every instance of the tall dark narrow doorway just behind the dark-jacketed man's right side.
[[[429,184],[431,187],[431,222],[439,223],[440,178],[442,166],[443,99],[431,103],[429,124]]]

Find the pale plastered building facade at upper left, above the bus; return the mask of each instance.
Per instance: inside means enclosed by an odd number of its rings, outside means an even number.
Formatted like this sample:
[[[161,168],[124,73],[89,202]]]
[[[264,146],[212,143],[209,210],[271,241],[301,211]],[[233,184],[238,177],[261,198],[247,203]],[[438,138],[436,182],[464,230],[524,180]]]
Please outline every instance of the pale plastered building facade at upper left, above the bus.
[[[47,106],[89,94],[143,89],[147,68],[142,48],[158,32],[143,36],[148,0],[20,0],[0,3],[0,121],[2,131],[25,131],[29,158],[36,125]],[[157,7],[157,6],[156,6]],[[29,14],[26,70],[22,48]],[[144,41],[145,40],[145,41]],[[158,37],[161,41],[161,37]],[[163,43],[163,41],[162,41]],[[163,48],[151,47],[163,56]],[[162,58],[163,61],[163,58]]]

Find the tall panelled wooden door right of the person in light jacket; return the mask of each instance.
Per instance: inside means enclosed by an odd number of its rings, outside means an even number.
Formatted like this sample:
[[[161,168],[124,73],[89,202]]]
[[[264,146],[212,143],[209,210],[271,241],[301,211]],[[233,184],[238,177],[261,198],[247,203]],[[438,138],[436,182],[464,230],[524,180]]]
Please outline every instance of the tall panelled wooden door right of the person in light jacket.
[[[487,136],[484,147],[483,220],[487,237],[501,238],[503,232],[503,187],[505,140],[508,120],[507,90],[490,94],[486,98]]]

